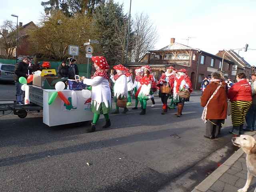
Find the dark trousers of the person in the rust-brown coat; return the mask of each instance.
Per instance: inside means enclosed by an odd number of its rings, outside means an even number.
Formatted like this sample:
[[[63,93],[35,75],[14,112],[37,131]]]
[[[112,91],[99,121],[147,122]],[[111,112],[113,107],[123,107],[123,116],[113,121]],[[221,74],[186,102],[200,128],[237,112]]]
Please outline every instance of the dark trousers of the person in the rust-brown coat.
[[[220,128],[224,124],[224,119],[208,119],[206,122],[206,133],[208,137],[216,138],[220,132]]]

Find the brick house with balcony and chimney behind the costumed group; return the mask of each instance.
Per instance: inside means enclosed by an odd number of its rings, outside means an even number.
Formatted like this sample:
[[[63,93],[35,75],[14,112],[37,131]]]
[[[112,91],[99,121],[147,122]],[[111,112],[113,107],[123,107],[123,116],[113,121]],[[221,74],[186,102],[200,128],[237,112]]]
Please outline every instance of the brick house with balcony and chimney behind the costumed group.
[[[185,68],[191,78],[192,86],[200,89],[204,76],[210,76],[212,72],[225,69],[224,74],[232,77],[232,66],[234,62],[222,57],[204,52],[175,42],[171,38],[170,45],[160,50],[149,50],[138,63],[127,63],[128,68],[139,68],[143,65],[150,65],[152,72],[157,77],[160,70],[166,71],[166,67],[172,65],[177,70]]]

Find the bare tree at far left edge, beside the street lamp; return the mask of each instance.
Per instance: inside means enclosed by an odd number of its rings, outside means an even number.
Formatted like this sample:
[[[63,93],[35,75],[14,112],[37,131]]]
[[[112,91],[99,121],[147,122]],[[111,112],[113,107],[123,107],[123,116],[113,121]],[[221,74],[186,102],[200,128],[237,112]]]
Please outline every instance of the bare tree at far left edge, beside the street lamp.
[[[5,20],[0,27],[0,47],[4,49],[4,58],[10,59],[16,50],[16,25]]]

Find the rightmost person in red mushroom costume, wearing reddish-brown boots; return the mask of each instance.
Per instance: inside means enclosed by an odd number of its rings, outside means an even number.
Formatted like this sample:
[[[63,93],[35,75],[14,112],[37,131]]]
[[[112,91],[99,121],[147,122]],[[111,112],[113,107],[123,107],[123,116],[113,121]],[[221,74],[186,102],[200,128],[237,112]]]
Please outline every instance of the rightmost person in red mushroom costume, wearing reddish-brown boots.
[[[173,88],[173,102],[178,106],[178,112],[175,114],[177,117],[182,116],[182,110],[184,107],[184,102],[189,101],[180,98],[178,92],[188,90],[190,93],[193,91],[192,83],[190,77],[188,76],[186,69],[177,70],[176,77],[174,78],[174,88]]]

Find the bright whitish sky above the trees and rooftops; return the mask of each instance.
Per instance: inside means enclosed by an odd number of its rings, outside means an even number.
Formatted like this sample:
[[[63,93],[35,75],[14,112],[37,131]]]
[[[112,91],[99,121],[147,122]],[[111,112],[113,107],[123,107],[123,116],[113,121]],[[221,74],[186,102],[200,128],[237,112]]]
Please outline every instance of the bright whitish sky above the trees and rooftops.
[[[130,0],[115,0],[129,11]],[[35,23],[44,12],[41,0],[5,0],[0,7],[0,23],[6,19]],[[216,54],[218,50],[256,49],[256,0],[132,0],[131,15],[144,12],[156,25],[159,40],[156,49],[176,42]],[[237,51],[238,52],[238,51]],[[239,52],[251,65],[256,66],[256,50]]]

